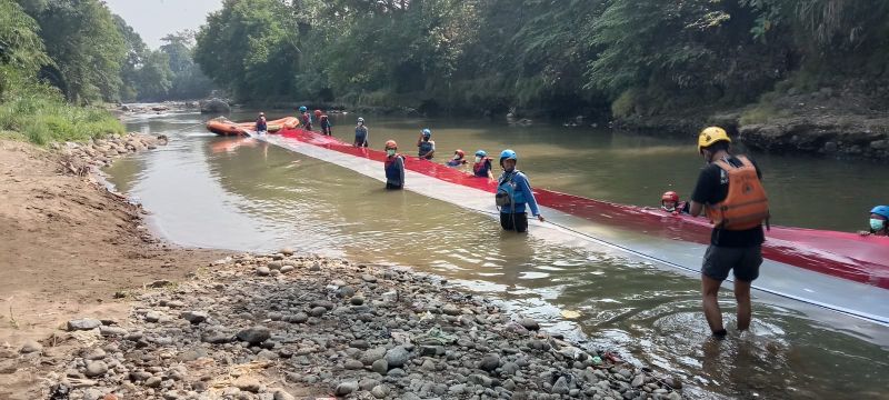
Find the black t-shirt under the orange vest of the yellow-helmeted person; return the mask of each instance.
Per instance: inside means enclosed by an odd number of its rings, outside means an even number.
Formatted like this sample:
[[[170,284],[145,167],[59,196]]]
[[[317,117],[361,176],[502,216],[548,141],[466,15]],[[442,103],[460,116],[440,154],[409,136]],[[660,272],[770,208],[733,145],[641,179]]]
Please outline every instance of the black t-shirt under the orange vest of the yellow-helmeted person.
[[[757,176],[762,179],[762,172],[756,161],[749,157],[748,160],[753,163],[757,169]],[[741,166],[741,161],[733,156],[729,157],[728,162],[732,166]],[[698,183],[691,193],[691,200],[701,204],[716,204],[726,200],[728,196],[728,174],[715,163],[705,167],[698,177]],[[719,247],[751,247],[762,244],[763,241],[766,241],[766,236],[762,233],[762,226],[740,231],[713,228],[713,232],[710,234],[710,243]]]

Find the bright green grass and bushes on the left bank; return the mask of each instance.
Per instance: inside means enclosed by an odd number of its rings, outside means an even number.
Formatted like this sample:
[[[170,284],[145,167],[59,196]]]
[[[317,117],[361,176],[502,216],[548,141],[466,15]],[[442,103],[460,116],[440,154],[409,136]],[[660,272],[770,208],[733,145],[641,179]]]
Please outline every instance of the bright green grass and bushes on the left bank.
[[[52,141],[121,133],[123,126],[101,109],[67,103],[57,88],[41,83],[47,57],[39,26],[11,0],[0,0],[0,137]]]

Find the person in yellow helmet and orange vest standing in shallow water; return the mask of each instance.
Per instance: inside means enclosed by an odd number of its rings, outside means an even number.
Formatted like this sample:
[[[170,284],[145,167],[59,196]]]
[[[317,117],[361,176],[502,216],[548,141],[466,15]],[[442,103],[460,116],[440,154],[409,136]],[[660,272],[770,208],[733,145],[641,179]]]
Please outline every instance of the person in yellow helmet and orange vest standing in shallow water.
[[[731,140],[722,128],[709,127],[698,137],[698,152],[707,166],[691,194],[691,216],[701,212],[713,222],[710,246],[701,268],[703,313],[716,339],[728,333],[722,326],[718,294],[729,271],[735,274],[738,330],[750,328],[750,284],[762,263],[762,222],[769,206],[760,179],[762,173],[749,158],[729,152]]]

